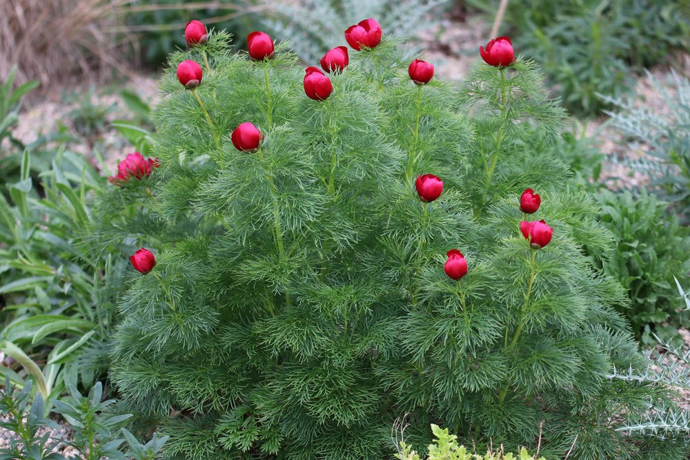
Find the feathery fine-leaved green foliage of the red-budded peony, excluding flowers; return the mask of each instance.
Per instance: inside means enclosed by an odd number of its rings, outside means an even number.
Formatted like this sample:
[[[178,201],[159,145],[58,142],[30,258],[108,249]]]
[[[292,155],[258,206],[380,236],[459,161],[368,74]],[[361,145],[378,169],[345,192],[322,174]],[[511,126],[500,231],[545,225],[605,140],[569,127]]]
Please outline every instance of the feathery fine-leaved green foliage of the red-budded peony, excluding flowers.
[[[682,458],[615,431],[664,394],[605,378],[643,361],[616,312],[624,291],[584,255],[607,258],[611,237],[549,153],[564,112],[535,63],[416,87],[384,38],[313,101],[285,46],[260,62],[228,46],[217,33],[170,57],[161,167],[101,196],[90,239],[155,252],[121,302],[112,379],[170,434],[167,458],[386,458],[405,413],[415,446],[441,422],[466,445],[535,450],[544,420],[547,458],[575,439],[572,459]],[[201,50],[212,123],[175,77]],[[264,134],[258,152],[230,142],[245,121]],[[424,204],[413,179],[426,173],[445,188]],[[527,187],[554,229],[533,267]],[[443,271],[453,248],[469,262],[460,283]]]

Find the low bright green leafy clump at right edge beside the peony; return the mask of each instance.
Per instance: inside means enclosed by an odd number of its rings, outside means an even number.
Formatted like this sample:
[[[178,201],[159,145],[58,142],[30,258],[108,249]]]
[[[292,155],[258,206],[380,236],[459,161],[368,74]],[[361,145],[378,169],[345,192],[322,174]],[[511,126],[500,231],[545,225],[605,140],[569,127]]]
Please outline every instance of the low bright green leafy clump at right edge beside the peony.
[[[656,343],[651,332],[660,334],[662,324],[671,332],[684,324],[673,277],[682,283],[690,272],[690,230],[667,212],[667,203],[642,192],[634,197],[625,191],[601,190],[595,195],[601,205],[600,222],[615,238],[617,250],[604,270],[629,290],[630,306],[620,310],[642,342]]]

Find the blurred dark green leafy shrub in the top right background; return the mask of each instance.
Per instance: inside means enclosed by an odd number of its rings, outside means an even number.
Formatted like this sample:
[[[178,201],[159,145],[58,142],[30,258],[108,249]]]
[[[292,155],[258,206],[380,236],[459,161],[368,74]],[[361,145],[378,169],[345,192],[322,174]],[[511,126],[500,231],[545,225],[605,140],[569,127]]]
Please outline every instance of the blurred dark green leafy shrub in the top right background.
[[[467,3],[493,14],[498,0]],[[687,0],[511,0],[502,34],[543,63],[564,104],[594,114],[618,97],[635,73],[690,49]]]

